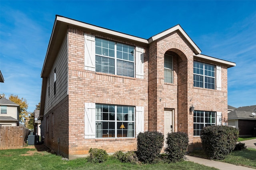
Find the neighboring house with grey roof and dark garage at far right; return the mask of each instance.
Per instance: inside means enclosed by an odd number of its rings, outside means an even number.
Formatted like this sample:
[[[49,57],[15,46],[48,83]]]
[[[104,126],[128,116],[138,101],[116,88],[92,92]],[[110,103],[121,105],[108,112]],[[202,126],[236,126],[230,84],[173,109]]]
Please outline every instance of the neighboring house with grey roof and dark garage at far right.
[[[244,106],[228,113],[228,125],[236,126],[240,136],[256,135],[256,105]]]

